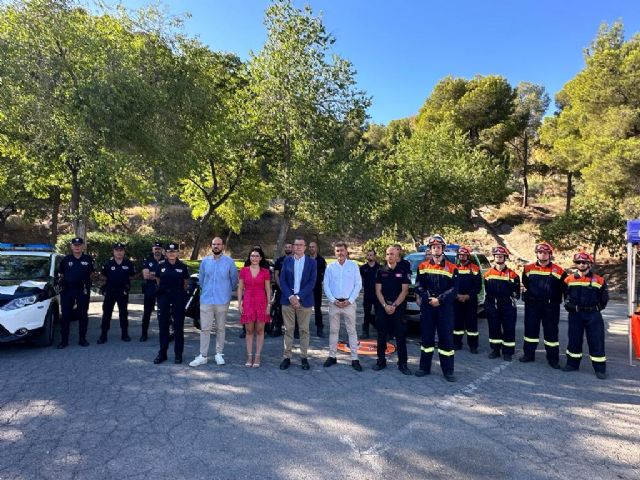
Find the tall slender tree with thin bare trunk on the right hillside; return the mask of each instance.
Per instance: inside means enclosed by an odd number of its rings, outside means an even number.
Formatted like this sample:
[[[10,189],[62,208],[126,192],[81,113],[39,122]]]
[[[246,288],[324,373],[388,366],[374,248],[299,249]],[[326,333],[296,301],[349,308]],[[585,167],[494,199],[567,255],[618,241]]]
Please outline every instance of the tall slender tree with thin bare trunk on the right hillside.
[[[541,85],[521,82],[516,87],[511,123],[515,136],[507,141],[513,160],[522,169],[522,206],[529,205],[529,166],[538,144],[538,129],[549,106],[549,95]]]

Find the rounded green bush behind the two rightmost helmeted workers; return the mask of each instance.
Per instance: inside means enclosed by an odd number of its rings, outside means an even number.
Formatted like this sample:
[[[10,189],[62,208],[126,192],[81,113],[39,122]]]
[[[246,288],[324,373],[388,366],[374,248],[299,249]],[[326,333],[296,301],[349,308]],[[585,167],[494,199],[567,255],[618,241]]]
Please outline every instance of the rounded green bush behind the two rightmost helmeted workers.
[[[626,221],[618,204],[605,196],[584,196],[574,208],[542,225],[541,237],[562,249],[591,246],[594,258],[601,248],[620,253],[625,245]]]

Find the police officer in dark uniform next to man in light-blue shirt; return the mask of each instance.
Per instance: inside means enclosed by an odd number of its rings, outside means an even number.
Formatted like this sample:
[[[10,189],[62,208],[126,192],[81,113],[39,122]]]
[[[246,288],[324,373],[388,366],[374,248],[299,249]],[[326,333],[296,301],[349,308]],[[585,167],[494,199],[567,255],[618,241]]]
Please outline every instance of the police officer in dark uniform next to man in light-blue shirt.
[[[160,350],[153,360],[158,364],[167,360],[169,349],[169,323],[173,316],[175,334],[175,363],[182,363],[184,350],[184,309],[187,304],[189,269],[178,259],[178,245],[169,243],[165,260],[155,270],[158,284],[158,323],[160,324]]]

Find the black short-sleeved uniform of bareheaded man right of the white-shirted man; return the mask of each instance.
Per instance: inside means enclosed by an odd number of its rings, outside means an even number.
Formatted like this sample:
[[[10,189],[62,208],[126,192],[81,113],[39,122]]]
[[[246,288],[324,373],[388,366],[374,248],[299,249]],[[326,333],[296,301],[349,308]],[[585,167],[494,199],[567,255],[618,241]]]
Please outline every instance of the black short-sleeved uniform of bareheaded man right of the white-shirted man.
[[[410,283],[409,274],[397,264],[395,268],[389,265],[380,267],[376,275],[376,283],[382,288],[382,296],[387,305],[393,304],[402,292],[402,286]],[[377,299],[376,299],[377,300]],[[407,368],[407,324],[404,319],[405,302],[398,305],[389,315],[379,301],[376,301],[376,328],[378,330],[378,365],[386,366],[387,339],[391,335],[396,337],[396,351],[398,353],[398,368]]]

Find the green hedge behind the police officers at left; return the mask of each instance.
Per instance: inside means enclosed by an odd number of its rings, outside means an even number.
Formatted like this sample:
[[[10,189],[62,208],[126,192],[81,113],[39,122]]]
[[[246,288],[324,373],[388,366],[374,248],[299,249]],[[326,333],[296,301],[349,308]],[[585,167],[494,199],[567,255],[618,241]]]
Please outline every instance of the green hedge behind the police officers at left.
[[[69,242],[74,234],[62,235],[56,243],[56,249],[59,253],[67,254],[69,250]],[[153,235],[125,235],[120,233],[99,233],[89,232],[86,242],[86,252],[91,255],[95,262],[96,268],[100,268],[104,262],[113,256],[113,244],[115,242],[124,242],[127,245],[125,255],[136,262],[151,255],[151,246],[153,242],[161,242],[166,245],[169,242],[176,241],[170,238],[158,238]]]

